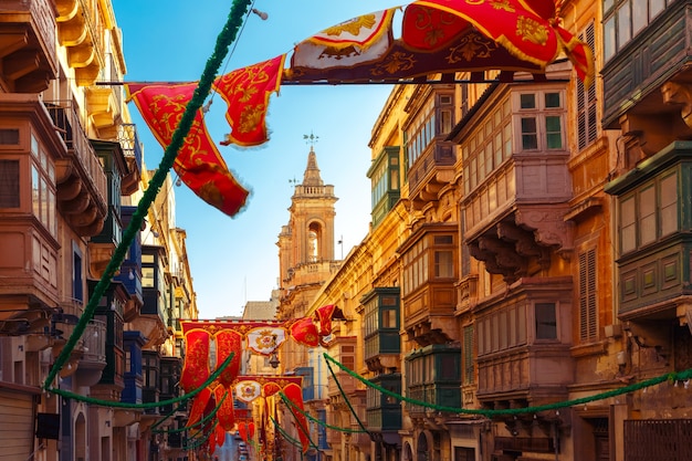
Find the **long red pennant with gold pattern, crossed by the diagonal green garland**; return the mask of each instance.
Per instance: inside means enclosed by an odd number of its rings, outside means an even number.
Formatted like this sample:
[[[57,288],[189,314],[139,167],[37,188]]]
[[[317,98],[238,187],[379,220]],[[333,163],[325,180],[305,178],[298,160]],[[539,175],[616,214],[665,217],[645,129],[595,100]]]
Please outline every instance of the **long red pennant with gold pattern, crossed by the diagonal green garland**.
[[[168,147],[192,98],[197,83],[125,84],[128,99],[137,105],[156,139]],[[245,205],[245,190],[231,175],[211,140],[201,113],[195,116],[190,132],[174,163],[174,169],[197,196],[228,216]]]

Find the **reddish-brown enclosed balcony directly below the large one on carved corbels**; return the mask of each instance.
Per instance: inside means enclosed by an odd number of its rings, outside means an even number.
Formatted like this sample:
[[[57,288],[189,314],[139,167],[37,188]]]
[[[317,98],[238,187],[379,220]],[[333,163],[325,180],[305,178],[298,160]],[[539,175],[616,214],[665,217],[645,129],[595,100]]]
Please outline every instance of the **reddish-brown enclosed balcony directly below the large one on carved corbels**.
[[[490,408],[542,405],[574,383],[572,277],[522,279],[476,311],[478,400]]]

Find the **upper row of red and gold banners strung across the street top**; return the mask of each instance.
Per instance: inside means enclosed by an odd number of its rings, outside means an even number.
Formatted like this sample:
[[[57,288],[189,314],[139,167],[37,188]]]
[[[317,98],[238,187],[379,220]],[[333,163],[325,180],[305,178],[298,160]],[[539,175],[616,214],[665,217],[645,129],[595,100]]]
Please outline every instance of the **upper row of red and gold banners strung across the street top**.
[[[403,11],[401,36],[395,39],[398,11]],[[484,71],[500,71],[502,82],[513,81],[517,72],[545,78],[546,67],[560,55],[588,86],[591,50],[560,25],[554,0],[420,0],[363,14],[296,44],[287,69],[282,54],[217,77],[212,86],[228,104],[231,127],[220,144],[266,143],[269,99],[282,84],[396,84],[433,74],[453,81],[459,72],[482,81]],[[197,83],[126,86],[154,135],[168,146]],[[245,205],[248,191],[228,170],[201,114],[174,168],[195,193],[224,213],[234,216]]]

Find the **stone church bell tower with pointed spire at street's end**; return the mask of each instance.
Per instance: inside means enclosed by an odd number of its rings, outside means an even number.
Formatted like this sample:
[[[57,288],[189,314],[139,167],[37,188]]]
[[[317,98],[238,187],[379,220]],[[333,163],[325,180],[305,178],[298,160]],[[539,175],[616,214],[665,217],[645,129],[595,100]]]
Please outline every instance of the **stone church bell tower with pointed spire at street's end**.
[[[311,135],[311,142],[314,137]],[[282,318],[296,318],[319,286],[336,272],[334,261],[334,186],[325,185],[311,145],[303,182],[291,198],[289,224],[279,234],[279,266]]]

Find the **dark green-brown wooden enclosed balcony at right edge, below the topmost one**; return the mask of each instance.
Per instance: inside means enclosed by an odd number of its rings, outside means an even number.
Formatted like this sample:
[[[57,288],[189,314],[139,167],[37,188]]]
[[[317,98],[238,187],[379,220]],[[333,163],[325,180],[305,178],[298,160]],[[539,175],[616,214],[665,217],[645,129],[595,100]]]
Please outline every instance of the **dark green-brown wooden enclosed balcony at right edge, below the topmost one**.
[[[618,207],[620,319],[692,321],[691,182],[692,143],[675,142],[606,186]]]

